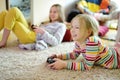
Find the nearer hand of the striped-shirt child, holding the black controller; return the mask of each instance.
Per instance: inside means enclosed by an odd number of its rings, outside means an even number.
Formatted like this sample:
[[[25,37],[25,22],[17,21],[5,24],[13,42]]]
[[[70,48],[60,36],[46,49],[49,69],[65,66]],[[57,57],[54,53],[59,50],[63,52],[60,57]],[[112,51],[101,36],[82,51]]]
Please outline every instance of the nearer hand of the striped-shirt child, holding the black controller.
[[[54,60],[54,63],[48,65],[48,67],[50,67],[51,69],[60,70],[67,67],[67,62],[58,58],[55,58]]]

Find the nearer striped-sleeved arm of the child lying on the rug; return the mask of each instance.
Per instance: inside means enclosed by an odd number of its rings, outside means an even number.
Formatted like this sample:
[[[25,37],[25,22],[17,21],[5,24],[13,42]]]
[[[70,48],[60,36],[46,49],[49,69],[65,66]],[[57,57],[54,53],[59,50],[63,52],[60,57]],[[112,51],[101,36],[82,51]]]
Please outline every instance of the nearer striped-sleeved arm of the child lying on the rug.
[[[83,55],[84,59],[80,62],[67,62],[67,69],[69,70],[89,70],[93,67],[96,57],[98,56],[99,42],[94,42],[91,39],[87,43],[86,53]]]

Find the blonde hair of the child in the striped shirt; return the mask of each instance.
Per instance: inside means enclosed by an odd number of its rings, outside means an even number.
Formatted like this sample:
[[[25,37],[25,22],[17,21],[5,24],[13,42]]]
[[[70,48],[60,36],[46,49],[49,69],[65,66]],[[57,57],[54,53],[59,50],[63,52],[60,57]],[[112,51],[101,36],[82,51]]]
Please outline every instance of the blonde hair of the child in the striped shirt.
[[[92,31],[90,36],[98,35],[99,23],[93,16],[88,14],[78,14],[75,18],[78,18],[79,22],[86,27],[86,29]]]

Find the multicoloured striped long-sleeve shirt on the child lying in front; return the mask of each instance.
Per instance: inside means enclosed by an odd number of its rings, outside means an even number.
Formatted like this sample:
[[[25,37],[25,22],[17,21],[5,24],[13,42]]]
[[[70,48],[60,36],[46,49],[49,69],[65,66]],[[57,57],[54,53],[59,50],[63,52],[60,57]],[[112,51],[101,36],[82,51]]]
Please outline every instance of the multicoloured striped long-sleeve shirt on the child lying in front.
[[[76,45],[77,46],[77,45]],[[117,68],[117,52],[114,48],[106,47],[98,37],[92,36],[86,40],[86,48],[77,47],[73,52],[61,54],[62,59],[76,59],[82,54],[83,60],[79,62],[68,62],[67,69],[89,70],[95,64],[105,68]]]

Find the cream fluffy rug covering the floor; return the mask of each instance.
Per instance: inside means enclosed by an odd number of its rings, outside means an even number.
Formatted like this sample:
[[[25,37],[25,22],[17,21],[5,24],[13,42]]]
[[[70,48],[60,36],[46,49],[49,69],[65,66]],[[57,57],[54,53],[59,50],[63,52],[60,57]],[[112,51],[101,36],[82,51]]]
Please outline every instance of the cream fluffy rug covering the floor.
[[[25,51],[16,45],[0,49],[0,80],[120,80],[120,69],[95,66],[90,71],[51,70],[46,59],[53,53],[70,52],[73,42],[43,51]]]

